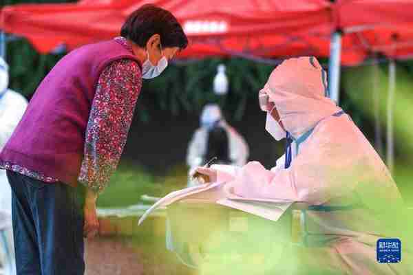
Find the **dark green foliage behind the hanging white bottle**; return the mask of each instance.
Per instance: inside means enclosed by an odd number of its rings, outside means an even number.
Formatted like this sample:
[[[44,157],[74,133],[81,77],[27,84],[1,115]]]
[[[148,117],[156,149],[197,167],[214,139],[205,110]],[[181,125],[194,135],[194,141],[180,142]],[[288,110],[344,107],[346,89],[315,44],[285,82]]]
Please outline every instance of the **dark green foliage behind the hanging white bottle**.
[[[213,94],[213,78],[220,63],[226,65],[230,79],[227,96]],[[257,91],[272,69],[272,66],[240,58],[211,58],[190,65],[170,65],[162,77],[149,80],[145,89],[153,94],[154,104],[159,104],[160,109],[170,110],[173,115],[181,111],[198,112],[204,104],[216,102],[235,113],[235,119],[240,120],[246,101],[257,100]]]

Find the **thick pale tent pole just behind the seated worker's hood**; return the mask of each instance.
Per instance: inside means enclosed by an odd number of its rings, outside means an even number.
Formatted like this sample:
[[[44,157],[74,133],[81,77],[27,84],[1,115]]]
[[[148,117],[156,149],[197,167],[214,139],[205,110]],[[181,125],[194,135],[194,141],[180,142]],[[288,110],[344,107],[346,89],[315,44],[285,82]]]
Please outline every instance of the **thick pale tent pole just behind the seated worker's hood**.
[[[328,90],[330,98],[339,104],[340,92],[340,62],[341,62],[341,32],[336,31],[330,41],[330,61],[328,62]]]

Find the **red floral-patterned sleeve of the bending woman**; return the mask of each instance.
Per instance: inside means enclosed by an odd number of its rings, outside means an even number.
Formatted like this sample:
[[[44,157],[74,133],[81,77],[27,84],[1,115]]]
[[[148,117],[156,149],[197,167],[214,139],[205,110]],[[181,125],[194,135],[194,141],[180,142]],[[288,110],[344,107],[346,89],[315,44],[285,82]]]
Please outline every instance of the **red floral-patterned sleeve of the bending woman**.
[[[116,170],[142,87],[135,61],[122,59],[100,74],[85,133],[78,181],[102,192]]]

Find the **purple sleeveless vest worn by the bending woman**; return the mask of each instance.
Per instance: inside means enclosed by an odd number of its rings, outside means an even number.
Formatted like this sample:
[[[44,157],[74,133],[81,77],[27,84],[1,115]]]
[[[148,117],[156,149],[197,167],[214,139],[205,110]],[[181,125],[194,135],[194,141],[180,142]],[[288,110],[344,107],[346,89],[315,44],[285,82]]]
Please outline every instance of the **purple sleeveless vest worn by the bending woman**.
[[[36,89],[0,159],[76,186],[96,83],[103,69],[121,58],[140,65],[114,40],[63,57]]]

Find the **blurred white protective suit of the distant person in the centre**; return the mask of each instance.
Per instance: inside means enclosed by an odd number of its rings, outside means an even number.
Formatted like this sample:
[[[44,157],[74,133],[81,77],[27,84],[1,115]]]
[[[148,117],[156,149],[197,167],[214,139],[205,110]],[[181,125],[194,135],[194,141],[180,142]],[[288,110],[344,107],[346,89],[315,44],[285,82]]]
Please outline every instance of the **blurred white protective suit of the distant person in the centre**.
[[[233,164],[236,166],[246,164],[249,155],[248,145],[240,133],[226,123],[217,104],[208,104],[204,107],[200,122],[201,127],[195,131],[188,146],[187,164],[190,168],[202,165],[203,156],[207,150],[208,131],[215,122],[228,134],[229,157]]]

